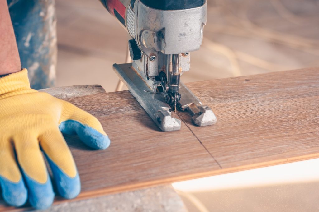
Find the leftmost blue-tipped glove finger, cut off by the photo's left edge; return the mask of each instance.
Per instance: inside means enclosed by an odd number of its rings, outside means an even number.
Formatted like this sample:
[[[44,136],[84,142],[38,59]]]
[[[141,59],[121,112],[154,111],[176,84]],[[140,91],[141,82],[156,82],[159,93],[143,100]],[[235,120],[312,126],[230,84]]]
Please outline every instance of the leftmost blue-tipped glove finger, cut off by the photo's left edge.
[[[19,207],[27,200],[27,190],[17,165],[13,146],[9,141],[0,141],[0,185],[4,201]]]

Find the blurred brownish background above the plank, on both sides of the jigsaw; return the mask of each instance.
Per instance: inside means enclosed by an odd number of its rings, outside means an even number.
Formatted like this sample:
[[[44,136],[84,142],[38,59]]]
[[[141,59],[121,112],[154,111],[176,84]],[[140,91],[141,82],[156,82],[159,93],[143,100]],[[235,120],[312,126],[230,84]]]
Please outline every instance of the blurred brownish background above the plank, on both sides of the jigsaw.
[[[115,90],[128,34],[98,0],[56,0],[56,86]],[[319,66],[319,0],[208,0],[201,49],[182,81]]]

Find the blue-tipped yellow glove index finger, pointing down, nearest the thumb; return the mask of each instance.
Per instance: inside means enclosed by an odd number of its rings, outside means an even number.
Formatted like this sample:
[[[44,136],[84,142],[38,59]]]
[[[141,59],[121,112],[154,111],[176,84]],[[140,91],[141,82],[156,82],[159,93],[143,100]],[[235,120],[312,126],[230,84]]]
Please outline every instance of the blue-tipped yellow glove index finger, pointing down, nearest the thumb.
[[[58,128],[40,137],[40,144],[51,167],[59,194],[67,199],[78,196],[80,178],[72,154]]]

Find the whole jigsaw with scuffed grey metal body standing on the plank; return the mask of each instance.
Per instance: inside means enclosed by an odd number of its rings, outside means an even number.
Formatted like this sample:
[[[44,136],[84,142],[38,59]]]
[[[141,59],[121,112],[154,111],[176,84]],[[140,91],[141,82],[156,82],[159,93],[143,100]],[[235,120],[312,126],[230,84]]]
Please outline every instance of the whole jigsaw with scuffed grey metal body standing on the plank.
[[[133,63],[114,64],[115,73],[159,128],[181,128],[181,121],[171,116],[176,108],[189,111],[198,126],[215,124],[213,111],[180,81],[189,71],[190,52],[203,41],[206,0],[100,1],[133,38]]]

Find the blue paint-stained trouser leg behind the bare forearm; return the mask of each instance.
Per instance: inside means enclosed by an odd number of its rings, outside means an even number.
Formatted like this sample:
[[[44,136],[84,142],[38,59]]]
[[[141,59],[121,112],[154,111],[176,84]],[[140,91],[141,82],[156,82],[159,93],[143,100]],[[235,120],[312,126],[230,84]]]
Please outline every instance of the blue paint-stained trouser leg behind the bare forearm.
[[[54,86],[56,78],[55,0],[7,0],[22,68],[31,88]]]

